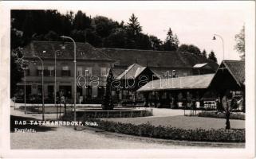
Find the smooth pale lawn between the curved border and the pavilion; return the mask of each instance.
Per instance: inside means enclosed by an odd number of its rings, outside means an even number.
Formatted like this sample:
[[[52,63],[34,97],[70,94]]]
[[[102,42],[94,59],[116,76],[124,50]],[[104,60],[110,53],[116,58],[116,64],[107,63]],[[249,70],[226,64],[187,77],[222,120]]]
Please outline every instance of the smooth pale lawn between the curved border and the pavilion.
[[[202,128],[205,130],[225,128],[226,119],[203,118],[195,116],[169,116],[169,117],[139,117],[139,118],[104,118],[113,122],[132,123],[140,125],[149,122],[153,126],[173,126],[181,129]],[[231,129],[244,129],[245,121],[230,120]]]

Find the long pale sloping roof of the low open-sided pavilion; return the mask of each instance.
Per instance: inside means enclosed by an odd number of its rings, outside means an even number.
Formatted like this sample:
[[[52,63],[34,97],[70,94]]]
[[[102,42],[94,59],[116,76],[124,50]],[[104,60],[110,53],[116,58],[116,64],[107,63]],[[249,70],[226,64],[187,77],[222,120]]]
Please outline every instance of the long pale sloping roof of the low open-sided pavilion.
[[[211,83],[215,74],[199,76],[183,76],[161,80],[152,80],[138,91],[161,91],[161,90],[180,90],[180,89],[206,89]]]

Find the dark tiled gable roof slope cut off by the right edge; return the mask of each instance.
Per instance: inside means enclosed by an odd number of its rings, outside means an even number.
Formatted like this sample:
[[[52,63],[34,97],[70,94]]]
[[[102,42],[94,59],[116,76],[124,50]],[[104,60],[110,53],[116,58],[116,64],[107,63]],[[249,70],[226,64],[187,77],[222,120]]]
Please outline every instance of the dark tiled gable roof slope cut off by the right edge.
[[[230,71],[231,75],[238,83],[245,81],[245,61],[242,60],[223,60],[223,64]]]

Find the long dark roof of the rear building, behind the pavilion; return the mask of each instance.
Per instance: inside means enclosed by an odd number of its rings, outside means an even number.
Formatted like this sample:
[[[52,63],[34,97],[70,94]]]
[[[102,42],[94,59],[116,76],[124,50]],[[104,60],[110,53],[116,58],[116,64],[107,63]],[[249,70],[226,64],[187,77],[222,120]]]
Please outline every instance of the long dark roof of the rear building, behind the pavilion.
[[[124,48],[98,48],[106,53],[110,58],[119,60],[120,64],[129,66],[137,61],[143,66],[163,67],[163,68],[193,68],[195,64],[208,63],[215,71],[218,68],[212,60],[207,60],[203,56],[197,56],[184,52],[137,50]]]

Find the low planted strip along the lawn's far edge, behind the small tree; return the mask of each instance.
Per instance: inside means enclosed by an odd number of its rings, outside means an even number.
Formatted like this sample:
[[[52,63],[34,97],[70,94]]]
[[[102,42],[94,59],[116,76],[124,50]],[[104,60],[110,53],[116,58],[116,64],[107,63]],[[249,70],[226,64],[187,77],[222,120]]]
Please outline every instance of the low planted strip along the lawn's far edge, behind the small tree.
[[[209,117],[209,118],[226,118],[226,115],[223,113],[216,113],[216,112],[207,112],[204,111],[198,114],[199,117]],[[231,113],[230,119],[238,119],[238,120],[245,120],[245,114],[241,113]]]

